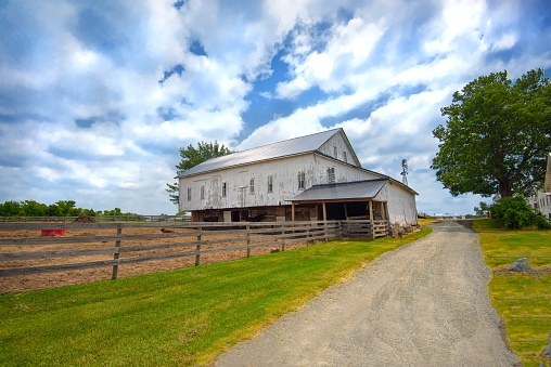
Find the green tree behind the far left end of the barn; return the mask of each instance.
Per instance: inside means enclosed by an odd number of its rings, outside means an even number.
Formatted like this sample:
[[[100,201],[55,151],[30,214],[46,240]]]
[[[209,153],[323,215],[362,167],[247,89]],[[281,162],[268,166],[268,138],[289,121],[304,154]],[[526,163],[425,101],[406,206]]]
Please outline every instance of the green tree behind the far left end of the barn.
[[[181,160],[176,165],[177,174],[180,174],[192,167],[195,167],[207,159],[226,156],[232,152],[227,148],[223,144],[219,145],[217,141],[214,143],[197,143],[195,148],[193,145],[188,145],[187,148],[180,148]],[[167,183],[166,192],[168,193],[170,201],[178,205],[179,202],[179,188],[178,182],[174,184]]]

